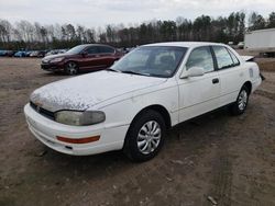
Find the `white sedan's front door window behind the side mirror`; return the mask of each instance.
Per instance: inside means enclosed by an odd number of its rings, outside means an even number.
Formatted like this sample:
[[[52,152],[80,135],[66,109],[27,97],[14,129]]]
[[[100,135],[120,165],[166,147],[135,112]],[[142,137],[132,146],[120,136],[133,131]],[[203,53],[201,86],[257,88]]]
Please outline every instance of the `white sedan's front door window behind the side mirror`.
[[[213,58],[210,47],[199,47],[191,52],[186,62],[186,69],[188,70],[191,67],[201,67],[205,72],[213,71]]]

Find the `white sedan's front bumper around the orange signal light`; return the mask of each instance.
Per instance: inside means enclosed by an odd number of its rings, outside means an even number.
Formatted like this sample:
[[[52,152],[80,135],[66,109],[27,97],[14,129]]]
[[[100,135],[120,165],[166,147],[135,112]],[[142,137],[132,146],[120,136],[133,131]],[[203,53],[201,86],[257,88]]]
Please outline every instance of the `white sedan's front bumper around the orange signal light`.
[[[38,114],[30,104],[25,105],[24,113],[30,130],[40,141],[56,151],[74,156],[120,150],[129,128],[129,125],[109,128],[105,127],[105,124],[92,126],[63,125]],[[100,136],[100,139],[89,144],[68,144],[57,140],[57,136],[72,139]]]

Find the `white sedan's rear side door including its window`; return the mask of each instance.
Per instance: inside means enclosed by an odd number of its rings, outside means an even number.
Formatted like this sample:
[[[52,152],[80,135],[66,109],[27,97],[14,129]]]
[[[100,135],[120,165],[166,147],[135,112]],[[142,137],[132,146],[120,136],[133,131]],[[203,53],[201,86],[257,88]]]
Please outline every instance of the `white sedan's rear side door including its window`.
[[[229,48],[212,46],[217,59],[217,68],[220,77],[221,96],[220,106],[234,102],[244,83],[244,69],[240,60]]]

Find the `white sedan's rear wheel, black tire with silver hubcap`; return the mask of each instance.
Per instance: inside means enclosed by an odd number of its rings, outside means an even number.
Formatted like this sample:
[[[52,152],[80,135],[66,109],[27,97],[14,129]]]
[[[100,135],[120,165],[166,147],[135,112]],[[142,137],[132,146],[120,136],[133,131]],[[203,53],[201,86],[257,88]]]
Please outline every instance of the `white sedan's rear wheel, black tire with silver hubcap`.
[[[243,85],[237,101],[230,106],[230,112],[232,115],[241,115],[245,112],[249,104],[250,91],[248,87]]]

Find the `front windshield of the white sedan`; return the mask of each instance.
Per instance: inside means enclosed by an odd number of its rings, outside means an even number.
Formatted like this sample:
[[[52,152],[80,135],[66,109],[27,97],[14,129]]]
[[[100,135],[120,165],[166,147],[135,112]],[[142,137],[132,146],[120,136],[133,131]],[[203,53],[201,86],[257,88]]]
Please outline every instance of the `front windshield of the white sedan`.
[[[110,69],[119,72],[169,78],[179,66],[187,48],[144,46],[129,53]]]

